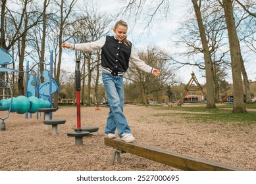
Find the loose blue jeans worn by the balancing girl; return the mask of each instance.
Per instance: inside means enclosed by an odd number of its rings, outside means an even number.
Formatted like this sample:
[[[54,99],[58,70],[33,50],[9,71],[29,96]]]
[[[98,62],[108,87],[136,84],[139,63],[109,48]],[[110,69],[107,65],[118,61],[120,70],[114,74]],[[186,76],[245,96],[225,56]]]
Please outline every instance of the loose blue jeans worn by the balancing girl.
[[[123,76],[113,76],[108,72],[102,71],[102,80],[109,103],[109,116],[105,133],[114,133],[117,128],[119,137],[122,133],[131,133],[127,120],[124,116],[124,83]]]

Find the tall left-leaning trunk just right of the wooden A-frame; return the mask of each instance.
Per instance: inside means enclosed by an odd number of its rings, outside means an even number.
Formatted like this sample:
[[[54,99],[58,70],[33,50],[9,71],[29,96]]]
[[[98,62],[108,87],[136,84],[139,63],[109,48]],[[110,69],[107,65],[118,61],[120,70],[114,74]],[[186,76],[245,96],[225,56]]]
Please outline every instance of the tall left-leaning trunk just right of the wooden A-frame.
[[[203,20],[201,17],[200,5],[197,5],[197,0],[192,0],[193,8],[195,10],[195,16],[197,18],[197,24],[201,37],[201,43],[203,47],[203,56],[205,59],[205,76],[206,76],[206,89],[207,89],[207,106],[206,108],[216,108],[215,104],[215,83],[213,74],[213,62],[211,61],[210,51],[208,49],[208,43],[205,35],[205,29],[203,26]],[[201,3],[201,0],[199,0]]]

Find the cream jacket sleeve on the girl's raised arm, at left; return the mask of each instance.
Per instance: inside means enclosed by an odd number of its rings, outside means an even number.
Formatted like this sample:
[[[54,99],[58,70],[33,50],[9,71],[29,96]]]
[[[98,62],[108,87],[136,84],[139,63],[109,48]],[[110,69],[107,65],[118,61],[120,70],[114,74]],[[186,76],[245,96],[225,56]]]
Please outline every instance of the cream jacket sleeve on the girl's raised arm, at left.
[[[106,42],[106,37],[102,37],[97,41],[92,41],[88,43],[76,43],[74,44],[73,49],[76,51],[85,51],[85,52],[95,51],[95,50],[101,49],[101,47],[103,47],[105,42]]]

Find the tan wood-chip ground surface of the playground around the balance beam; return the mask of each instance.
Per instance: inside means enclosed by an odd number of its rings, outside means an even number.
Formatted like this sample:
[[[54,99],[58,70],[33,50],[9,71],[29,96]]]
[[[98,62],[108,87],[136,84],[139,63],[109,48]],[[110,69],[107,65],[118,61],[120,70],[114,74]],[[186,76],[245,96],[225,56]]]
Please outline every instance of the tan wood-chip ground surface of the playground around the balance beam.
[[[111,166],[115,149],[104,144],[108,112],[107,107],[81,107],[82,126],[99,127],[83,137],[83,145],[75,145],[74,137],[67,136],[76,128],[75,106],[60,106],[53,112],[53,119],[66,120],[57,135],[45,130],[43,113],[38,119],[36,114],[25,119],[24,114],[11,113],[6,130],[0,131],[0,170],[178,170],[128,152],[121,154],[122,164],[115,161]],[[188,121],[182,115],[188,112],[128,104],[124,113],[141,145],[256,170],[256,124]]]

